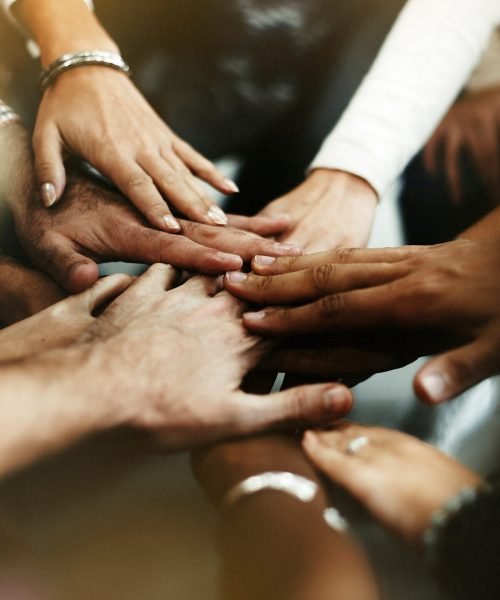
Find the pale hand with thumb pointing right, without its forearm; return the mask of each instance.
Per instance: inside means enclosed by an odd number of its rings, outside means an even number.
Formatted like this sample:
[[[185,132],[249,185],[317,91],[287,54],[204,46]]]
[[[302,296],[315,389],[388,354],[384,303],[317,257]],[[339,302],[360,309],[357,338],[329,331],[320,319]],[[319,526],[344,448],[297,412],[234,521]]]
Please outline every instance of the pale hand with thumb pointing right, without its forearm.
[[[87,386],[89,377],[96,382],[91,395],[119,402],[120,422],[163,433],[179,448],[325,422],[350,409],[349,392],[338,396],[332,384],[267,396],[240,391],[264,350],[243,329],[243,306],[202,277],[165,292],[175,278],[171,267],[151,267],[82,336],[97,371],[85,375],[83,361],[80,375]]]

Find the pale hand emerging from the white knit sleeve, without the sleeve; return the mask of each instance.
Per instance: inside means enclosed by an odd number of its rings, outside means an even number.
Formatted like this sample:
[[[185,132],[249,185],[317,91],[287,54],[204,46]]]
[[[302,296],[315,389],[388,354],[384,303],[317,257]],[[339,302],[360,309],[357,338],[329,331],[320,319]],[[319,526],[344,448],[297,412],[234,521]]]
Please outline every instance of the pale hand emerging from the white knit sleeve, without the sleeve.
[[[363,179],[330,169],[314,170],[297,188],[260,214],[288,214],[291,228],[280,240],[307,252],[364,247],[370,237],[377,196]]]

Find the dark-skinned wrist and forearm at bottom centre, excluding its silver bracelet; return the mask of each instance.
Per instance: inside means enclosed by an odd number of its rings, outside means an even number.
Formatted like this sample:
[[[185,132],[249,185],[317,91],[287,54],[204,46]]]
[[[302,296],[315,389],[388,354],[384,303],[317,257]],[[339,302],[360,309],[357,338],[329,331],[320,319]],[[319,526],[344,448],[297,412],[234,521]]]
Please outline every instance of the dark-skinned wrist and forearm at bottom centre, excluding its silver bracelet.
[[[323,520],[322,513],[331,503],[297,439],[266,435],[218,444],[197,451],[193,466],[198,481],[221,509],[229,489],[266,471],[292,472],[318,486],[309,503],[282,492],[263,491],[224,510],[219,532],[223,598],[379,597],[362,550],[352,537],[333,531]]]

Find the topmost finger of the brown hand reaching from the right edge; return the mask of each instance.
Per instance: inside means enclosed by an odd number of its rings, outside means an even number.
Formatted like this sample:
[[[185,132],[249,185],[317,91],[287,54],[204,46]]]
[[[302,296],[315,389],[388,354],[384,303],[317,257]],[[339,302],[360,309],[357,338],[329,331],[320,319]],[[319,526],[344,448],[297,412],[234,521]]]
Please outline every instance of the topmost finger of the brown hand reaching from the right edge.
[[[403,261],[426,252],[428,246],[402,246],[400,248],[338,248],[316,254],[304,254],[292,258],[276,258],[273,256],[256,256],[252,269],[258,275],[280,275],[292,271],[303,271],[317,265],[355,264],[355,263],[394,263]]]

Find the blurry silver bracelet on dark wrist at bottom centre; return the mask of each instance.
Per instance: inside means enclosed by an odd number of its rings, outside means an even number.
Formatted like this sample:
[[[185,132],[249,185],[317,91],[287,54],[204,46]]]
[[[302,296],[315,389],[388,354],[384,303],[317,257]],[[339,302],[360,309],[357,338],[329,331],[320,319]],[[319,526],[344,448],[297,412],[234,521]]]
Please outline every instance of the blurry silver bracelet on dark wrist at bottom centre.
[[[265,490],[284,492],[301,502],[307,503],[312,502],[316,497],[318,486],[314,481],[295,473],[267,471],[252,475],[237,483],[225,494],[222,504],[226,509],[229,509],[242,498]],[[323,519],[331,529],[339,533],[344,533],[349,529],[347,520],[342,517],[336,508],[326,508],[323,511]]]

